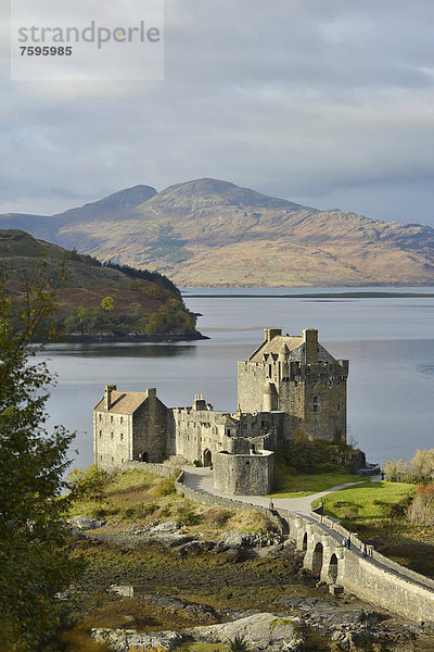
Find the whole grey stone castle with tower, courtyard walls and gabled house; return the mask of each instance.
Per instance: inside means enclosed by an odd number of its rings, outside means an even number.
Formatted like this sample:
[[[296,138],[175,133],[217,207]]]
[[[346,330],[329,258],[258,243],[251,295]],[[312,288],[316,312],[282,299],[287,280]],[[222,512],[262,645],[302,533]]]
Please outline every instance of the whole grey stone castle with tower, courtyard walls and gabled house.
[[[166,408],[155,389],[105,387],[93,411],[94,463],[159,463],[182,455],[214,468],[216,491],[270,491],[275,453],[297,434],[346,441],[348,361],[335,360],[318,330],[301,336],[266,328],[263,343],[238,363],[238,410],[215,412],[202,394],[189,408]]]

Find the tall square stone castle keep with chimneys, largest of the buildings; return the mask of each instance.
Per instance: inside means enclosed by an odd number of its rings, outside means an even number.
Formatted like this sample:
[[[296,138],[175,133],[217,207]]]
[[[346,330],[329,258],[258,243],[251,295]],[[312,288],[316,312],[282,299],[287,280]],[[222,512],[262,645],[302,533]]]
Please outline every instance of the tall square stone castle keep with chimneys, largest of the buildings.
[[[238,402],[243,412],[283,412],[285,439],[346,441],[347,376],[348,361],[330,355],[315,328],[301,336],[266,328],[264,342],[238,363]]]

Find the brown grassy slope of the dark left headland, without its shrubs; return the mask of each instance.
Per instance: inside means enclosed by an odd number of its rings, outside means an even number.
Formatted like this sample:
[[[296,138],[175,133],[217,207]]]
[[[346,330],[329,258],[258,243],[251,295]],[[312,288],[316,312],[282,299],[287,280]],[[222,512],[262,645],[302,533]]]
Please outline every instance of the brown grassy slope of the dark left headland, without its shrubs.
[[[13,271],[10,289],[17,301],[23,297],[27,277],[56,279],[65,262],[67,279],[56,292],[55,318],[66,334],[142,333],[152,315],[166,310],[171,312],[171,323],[167,328],[157,325],[155,334],[194,330],[194,319],[180,296],[158,285],[158,279],[150,281],[127,276],[118,269],[102,266],[89,256],[36,240],[24,231],[0,230],[0,252],[4,252],[3,260]],[[107,296],[113,298],[114,309],[104,312],[101,301]],[[75,318],[79,309],[89,313],[86,327]]]

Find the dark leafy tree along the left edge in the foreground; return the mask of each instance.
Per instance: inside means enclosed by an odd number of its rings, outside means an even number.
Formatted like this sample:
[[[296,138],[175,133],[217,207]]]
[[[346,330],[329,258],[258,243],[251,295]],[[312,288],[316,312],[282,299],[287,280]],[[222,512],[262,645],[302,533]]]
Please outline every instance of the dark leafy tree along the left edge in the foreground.
[[[67,604],[59,594],[69,586],[62,512],[67,450],[73,435],[49,434],[47,387],[53,377],[37,354],[36,336],[54,336],[56,284],[44,278],[44,263],[30,271],[24,300],[13,309],[8,275],[0,265],[0,650],[48,652],[64,623]]]

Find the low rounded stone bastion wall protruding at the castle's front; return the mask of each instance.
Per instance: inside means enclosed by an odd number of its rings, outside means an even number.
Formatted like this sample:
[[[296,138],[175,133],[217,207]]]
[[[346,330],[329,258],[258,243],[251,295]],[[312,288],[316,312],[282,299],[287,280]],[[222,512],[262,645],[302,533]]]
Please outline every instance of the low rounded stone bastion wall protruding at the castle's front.
[[[232,496],[264,496],[271,489],[275,453],[216,453],[214,456],[214,488]]]

